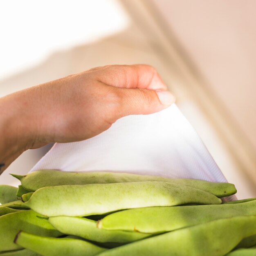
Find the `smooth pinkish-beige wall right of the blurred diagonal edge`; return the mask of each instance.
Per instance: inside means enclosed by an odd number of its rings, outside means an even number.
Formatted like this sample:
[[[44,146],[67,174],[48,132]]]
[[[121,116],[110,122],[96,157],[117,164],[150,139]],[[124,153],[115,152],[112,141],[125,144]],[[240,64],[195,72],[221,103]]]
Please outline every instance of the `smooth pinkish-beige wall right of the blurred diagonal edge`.
[[[152,1],[256,151],[256,1]]]

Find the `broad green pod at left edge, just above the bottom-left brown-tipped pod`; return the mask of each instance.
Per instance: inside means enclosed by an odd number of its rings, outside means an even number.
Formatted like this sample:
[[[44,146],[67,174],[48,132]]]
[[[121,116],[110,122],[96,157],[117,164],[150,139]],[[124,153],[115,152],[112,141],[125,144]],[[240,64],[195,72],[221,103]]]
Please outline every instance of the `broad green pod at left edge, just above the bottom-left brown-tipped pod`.
[[[43,236],[60,236],[59,231],[43,218],[40,214],[28,210],[9,213],[0,217],[0,251],[20,249],[13,240],[20,230]]]

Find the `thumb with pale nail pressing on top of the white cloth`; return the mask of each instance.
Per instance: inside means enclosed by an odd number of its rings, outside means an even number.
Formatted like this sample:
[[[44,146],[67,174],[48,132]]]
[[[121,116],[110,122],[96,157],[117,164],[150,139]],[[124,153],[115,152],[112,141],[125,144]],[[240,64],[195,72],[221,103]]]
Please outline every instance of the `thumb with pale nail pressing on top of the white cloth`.
[[[151,114],[167,108],[175,102],[174,95],[166,90],[117,88],[121,109],[120,117]],[[119,117],[119,118],[120,118]]]

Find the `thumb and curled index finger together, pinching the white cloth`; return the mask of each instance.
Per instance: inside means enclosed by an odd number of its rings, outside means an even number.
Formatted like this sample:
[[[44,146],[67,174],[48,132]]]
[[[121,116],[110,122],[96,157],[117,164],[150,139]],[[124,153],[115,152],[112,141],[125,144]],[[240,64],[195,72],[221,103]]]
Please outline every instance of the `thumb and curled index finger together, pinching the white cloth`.
[[[109,85],[117,96],[113,97],[115,102],[118,101],[114,105],[113,122],[126,115],[146,115],[163,110],[175,101],[155,68],[149,65],[110,65],[89,72],[92,79]]]

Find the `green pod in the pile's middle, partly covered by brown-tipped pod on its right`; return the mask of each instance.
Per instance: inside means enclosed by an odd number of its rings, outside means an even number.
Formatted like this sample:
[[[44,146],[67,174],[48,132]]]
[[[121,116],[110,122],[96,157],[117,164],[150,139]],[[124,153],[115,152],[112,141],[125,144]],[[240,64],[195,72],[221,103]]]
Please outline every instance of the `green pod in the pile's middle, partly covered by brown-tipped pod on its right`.
[[[149,236],[139,232],[98,229],[95,220],[81,217],[50,217],[49,222],[63,234],[80,236],[99,243],[130,243]]]

